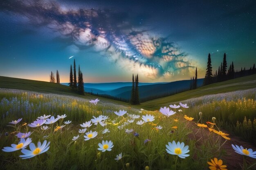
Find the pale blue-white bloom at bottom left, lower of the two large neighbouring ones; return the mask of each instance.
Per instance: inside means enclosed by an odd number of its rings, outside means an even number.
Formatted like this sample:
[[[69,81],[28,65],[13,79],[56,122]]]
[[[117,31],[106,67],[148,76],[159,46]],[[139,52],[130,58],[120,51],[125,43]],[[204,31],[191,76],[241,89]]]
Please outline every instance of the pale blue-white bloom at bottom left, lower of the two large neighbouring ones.
[[[20,155],[20,157],[22,157],[22,159],[28,159],[28,158],[34,157],[36,155],[40,155],[40,154],[46,152],[47,150],[49,150],[49,148],[50,148],[49,145],[50,145],[50,142],[47,143],[46,140],[43,142],[42,145],[41,145],[41,142],[39,141],[37,143],[37,147],[34,143],[30,143],[29,144],[30,150],[22,149],[21,152],[24,155]]]

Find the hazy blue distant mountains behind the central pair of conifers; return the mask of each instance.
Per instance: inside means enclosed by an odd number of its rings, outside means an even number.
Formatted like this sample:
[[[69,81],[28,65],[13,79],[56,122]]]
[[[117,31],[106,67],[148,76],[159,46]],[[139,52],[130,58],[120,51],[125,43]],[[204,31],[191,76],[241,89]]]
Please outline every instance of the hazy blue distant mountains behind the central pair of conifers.
[[[159,97],[165,97],[181,91],[186,91],[190,87],[190,80],[176,82],[139,83],[139,97],[141,102]],[[61,83],[68,86],[68,83]],[[198,86],[202,86],[203,79],[198,79]],[[132,82],[114,83],[85,83],[85,92],[99,95],[110,95],[121,99],[130,99]]]

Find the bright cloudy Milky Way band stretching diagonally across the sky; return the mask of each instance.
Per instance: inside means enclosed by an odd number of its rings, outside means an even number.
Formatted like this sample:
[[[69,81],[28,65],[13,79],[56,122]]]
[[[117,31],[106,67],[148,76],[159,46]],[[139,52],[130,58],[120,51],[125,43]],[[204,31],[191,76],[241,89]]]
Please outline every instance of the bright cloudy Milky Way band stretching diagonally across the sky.
[[[0,10],[26,17],[70,38],[73,51],[91,49],[117,66],[149,79],[191,75],[193,60],[170,38],[141,29],[135,18],[114,9],[72,9],[54,1],[4,0]]]

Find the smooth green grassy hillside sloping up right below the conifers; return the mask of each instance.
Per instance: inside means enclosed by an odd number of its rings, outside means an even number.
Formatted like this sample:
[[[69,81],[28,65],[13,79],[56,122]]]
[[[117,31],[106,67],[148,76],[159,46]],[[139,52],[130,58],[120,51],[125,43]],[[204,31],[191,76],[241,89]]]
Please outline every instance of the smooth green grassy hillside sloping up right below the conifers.
[[[236,79],[227,80],[225,82],[219,82],[210,84],[208,86],[202,86],[195,90],[178,93],[168,97],[150,100],[148,102],[141,103],[137,108],[144,108],[147,110],[159,110],[160,107],[169,106],[173,102],[179,102],[186,99],[195,97],[201,97],[204,95],[226,93],[231,91],[246,90],[256,87],[256,74],[240,77]],[[157,93],[157,92],[156,92]]]

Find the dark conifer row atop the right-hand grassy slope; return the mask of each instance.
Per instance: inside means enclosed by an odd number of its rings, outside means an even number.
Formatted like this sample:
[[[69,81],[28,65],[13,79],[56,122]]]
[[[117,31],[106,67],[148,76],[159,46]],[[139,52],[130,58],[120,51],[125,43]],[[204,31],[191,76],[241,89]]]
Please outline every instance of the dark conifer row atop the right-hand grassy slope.
[[[240,71],[238,70],[235,71],[234,62],[232,61],[229,68],[227,69],[226,53],[224,53],[223,62],[221,62],[218,68],[218,72],[216,70],[215,73],[212,73],[211,54],[209,53],[203,86],[216,83],[216,82],[223,82],[229,79],[252,75],[252,74],[256,74],[255,64],[253,65],[253,67],[251,67],[248,70],[246,70],[245,67],[244,68],[241,67]]]

